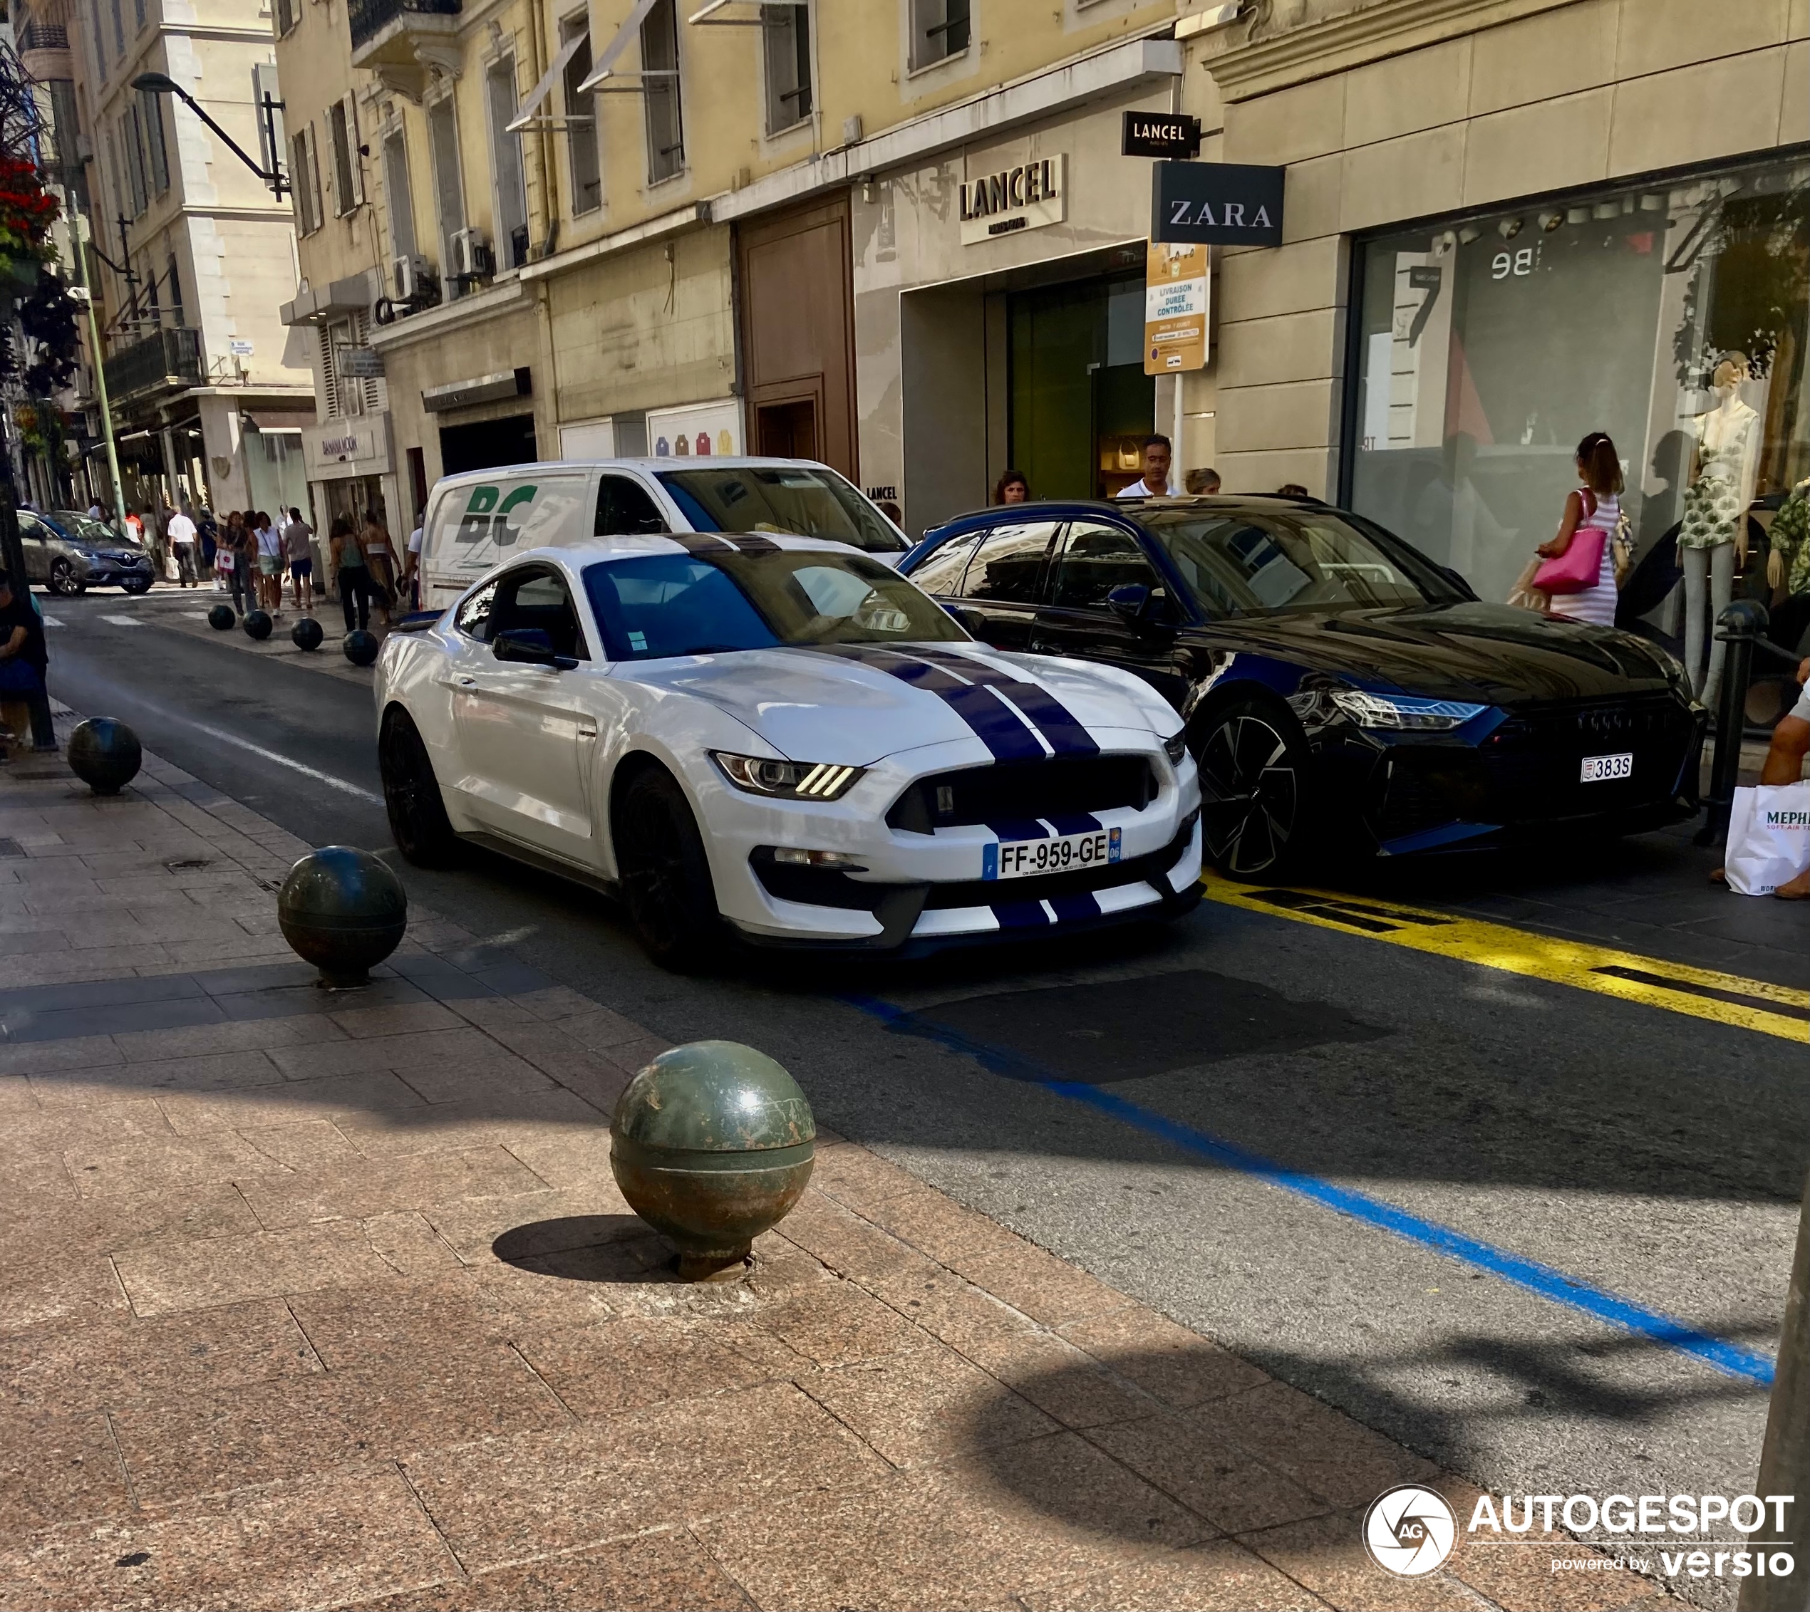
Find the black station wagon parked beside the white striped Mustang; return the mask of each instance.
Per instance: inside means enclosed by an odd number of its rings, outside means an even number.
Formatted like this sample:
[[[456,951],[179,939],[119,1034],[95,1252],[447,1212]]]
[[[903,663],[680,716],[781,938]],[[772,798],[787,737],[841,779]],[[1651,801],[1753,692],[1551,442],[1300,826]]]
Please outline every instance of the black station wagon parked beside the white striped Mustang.
[[[1629,834],[1698,809],[1703,711],[1633,633],[1484,604],[1314,499],[1023,503],[900,564],[1001,650],[1135,671],[1184,715],[1207,856]]]

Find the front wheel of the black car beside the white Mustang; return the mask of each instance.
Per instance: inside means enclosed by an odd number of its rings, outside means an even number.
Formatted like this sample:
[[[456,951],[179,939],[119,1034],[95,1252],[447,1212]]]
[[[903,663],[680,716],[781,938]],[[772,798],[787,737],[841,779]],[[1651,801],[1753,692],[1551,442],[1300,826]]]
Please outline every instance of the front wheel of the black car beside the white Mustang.
[[[1305,747],[1291,718],[1238,700],[1198,751],[1202,845],[1224,874],[1281,877],[1305,850]]]

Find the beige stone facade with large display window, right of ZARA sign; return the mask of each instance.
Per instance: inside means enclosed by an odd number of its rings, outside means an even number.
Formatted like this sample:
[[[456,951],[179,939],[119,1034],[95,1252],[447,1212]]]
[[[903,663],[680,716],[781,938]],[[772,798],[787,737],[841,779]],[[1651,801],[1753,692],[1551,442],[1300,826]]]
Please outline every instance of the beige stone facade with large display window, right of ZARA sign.
[[[1184,103],[1287,168],[1283,244],[1220,264],[1229,488],[1301,483],[1500,599],[1589,431],[1643,550],[1810,476],[1801,0],[1222,11],[1178,25]]]

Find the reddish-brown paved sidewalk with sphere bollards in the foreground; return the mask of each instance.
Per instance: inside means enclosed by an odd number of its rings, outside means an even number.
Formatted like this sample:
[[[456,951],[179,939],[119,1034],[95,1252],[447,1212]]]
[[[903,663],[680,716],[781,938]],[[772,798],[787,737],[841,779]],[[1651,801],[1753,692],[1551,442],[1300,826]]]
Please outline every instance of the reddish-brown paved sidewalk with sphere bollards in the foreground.
[[[679,1285],[608,1167],[661,1042],[429,914],[319,990],[304,850],[0,769],[9,1612],[1665,1599],[1564,1536],[1386,1578],[1365,1505],[1473,1491],[851,1142]]]

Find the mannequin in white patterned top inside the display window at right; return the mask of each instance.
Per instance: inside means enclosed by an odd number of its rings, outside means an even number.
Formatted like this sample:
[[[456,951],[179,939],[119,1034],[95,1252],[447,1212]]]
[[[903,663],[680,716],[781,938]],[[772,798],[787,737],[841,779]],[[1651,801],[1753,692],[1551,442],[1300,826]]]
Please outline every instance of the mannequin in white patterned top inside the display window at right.
[[[1759,460],[1759,414],[1741,402],[1743,380],[1743,355],[1730,353],[1716,365],[1710,385],[1718,402],[1698,418],[1685,519],[1678,534],[1678,559],[1685,574],[1685,673],[1705,706],[1716,704],[1721,687],[1727,646],[1710,635],[1734,595],[1736,572],[1747,564],[1747,507],[1754,501]]]

